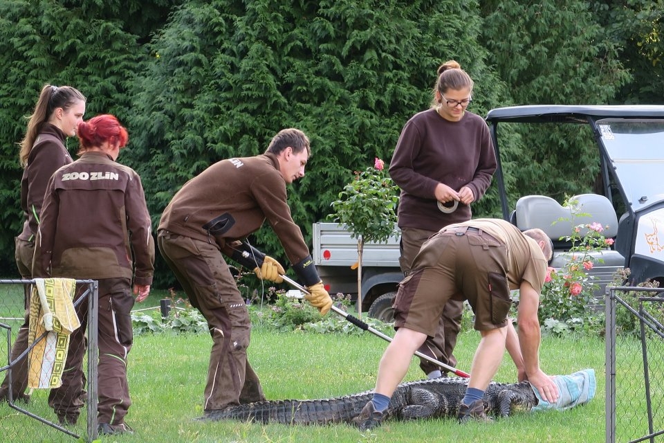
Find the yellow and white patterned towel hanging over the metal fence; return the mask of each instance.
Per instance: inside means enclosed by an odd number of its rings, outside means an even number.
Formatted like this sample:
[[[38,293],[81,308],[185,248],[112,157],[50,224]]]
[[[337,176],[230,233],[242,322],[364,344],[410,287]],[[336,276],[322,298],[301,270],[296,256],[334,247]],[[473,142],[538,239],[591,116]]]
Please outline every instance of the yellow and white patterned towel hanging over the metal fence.
[[[35,278],[30,294],[28,346],[48,332],[30,350],[28,388],[58,388],[67,359],[69,334],[81,323],[72,302],[76,280],[71,278]]]

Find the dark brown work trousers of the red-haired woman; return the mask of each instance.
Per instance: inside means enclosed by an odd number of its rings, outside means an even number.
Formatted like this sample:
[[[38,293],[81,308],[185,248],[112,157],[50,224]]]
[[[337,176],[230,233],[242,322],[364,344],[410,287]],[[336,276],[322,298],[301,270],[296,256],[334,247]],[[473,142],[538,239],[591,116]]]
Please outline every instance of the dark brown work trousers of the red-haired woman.
[[[133,344],[131,308],[135,302],[129,278],[106,278],[98,281],[98,405],[97,420],[113,426],[124,424],[131,406],[127,383],[127,356]],[[77,284],[74,302],[84,295],[87,284]],[[62,374],[62,386],[50,390],[48,405],[59,419],[75,423],[84,406],[81,392],[85,377],[83,358],[86,350],[88,301],[76,306],[81,327],[69,338],[67,360]]]

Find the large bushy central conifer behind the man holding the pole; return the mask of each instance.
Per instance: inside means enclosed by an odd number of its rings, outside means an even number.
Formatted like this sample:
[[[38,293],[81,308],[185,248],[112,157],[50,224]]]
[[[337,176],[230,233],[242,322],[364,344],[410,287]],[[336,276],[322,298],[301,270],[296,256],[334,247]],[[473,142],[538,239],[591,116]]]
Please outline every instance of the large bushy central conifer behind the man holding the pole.
[[[428,107],[443,59],[483,79],[480,114],[490,107],[484,91],[496,98],[481,19],[457,1],[274,3],[188,2],[153,40],[133,91],[138,143],[127,157],[151,190],[155,219],[210,163],[264,152],[279,129],[295,126],[313,150],[289,190],[293,218],[309,235],[354,170],[374,156],[389,162],[407,118]],[[441,29],[454,39],[439,39]],[[281,258],[271,230],[256,241]]]

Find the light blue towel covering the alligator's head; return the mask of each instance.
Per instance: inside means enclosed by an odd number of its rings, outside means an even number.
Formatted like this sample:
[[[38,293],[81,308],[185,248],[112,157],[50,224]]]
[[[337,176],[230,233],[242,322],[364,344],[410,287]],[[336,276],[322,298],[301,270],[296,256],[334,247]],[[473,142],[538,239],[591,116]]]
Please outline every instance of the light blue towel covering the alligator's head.
[[[555,403],[549,403],[542,400],[540,392],[533,387],[537,399],[540,400],[540,403],[533,408],[533,411],[547,409],[566,410],[587,403],[595,397],[597,382],[595,380],[594,369],[584,369],[569,375],[556,375],[553,381],[558,387],[560,397],[558,397]]]

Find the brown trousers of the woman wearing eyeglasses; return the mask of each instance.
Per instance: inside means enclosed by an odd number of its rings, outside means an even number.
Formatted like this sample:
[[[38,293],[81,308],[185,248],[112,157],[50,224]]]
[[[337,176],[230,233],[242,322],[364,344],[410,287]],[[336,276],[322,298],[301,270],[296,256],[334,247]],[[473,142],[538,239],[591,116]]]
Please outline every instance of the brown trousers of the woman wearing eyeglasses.
[[[400,239],[401,257],[399,263],[404,275],[412,272],[413,260],[420,251],[422,244],[438,231],[402,228]],[[454,357],[454,347],[457,345],[457,336],[461,330],[461,317],[463,316],[463,301],[449,300],[443,307],[436,335],[433,338],[427,338],[427,341],[418,349],[419,352],[450,366],[457,366],[457,359]],[[425,374],[434,370],[442,370],[435,363],[425,359],[420,359],[420,368]]]

